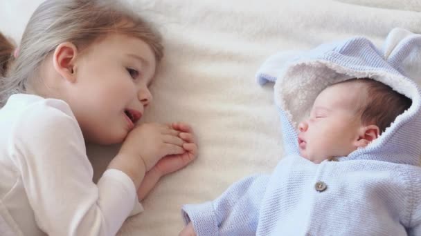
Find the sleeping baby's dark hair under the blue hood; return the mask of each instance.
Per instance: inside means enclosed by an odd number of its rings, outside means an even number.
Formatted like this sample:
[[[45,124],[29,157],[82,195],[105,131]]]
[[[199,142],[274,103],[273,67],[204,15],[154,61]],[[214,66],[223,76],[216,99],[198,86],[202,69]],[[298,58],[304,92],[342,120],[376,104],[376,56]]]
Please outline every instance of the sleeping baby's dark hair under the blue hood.
[[[412,101],[408,97],[396,92],[390,86],[374,79],[349,79],[341,83],[364,83],[367,88],[367,101],[359,108],[361,121],[364,125],[375,124],[382,133],[411,106]]]

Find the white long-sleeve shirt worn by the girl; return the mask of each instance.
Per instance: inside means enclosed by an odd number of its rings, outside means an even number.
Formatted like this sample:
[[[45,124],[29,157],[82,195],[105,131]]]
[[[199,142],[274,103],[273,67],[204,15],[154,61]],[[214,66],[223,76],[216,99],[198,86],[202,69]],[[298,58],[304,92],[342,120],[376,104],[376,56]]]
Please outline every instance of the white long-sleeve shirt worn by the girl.
[[[0,235],[116,234],[138,201],[133,181],[109,169],[93,183],[64,101],[12,95],[0,130]]]

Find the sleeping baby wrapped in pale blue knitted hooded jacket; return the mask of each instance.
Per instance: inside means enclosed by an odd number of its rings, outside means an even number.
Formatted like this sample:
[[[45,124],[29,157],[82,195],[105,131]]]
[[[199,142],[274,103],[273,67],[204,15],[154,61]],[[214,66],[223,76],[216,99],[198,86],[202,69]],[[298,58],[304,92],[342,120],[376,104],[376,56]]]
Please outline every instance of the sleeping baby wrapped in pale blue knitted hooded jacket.
[[[400,69],[420,45],[355,37],[268,59],[258,79],[275,82],[285,157],[183,206],[180,235],[421,235],[421,90]]]

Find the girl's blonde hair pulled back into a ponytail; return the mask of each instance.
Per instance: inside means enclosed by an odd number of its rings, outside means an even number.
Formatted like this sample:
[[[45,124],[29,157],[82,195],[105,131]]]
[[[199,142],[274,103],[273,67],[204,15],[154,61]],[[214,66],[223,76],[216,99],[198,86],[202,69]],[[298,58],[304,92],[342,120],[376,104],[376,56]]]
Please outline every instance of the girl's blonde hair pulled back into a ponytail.
[[[85,48],[93,41],[116,32],[147,43],[156,61],[163,57],[161,35],[153,26],[120,1],[47,0],[30,18],[19,46],[19,56],[0,34],[0,108],[14,93],[26,92],[37,68],[60,43]]]

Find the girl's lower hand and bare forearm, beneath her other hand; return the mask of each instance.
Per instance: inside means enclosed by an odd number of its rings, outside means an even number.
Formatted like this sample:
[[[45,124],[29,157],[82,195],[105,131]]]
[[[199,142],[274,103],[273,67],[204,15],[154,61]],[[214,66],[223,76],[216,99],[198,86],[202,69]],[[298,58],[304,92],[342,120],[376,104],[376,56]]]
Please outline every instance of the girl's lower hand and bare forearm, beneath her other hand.
[[[183,139],[184,152],[163,157],[158,163],[146,173],[141,186],[138,188],[137,196],[139,201],[144,199],[150,190],[163,175],[168,175],[187,166],[197,157],[197,141],[192,128],[184,123],[173,123],[171,127],[179,131],[179,137]]]

